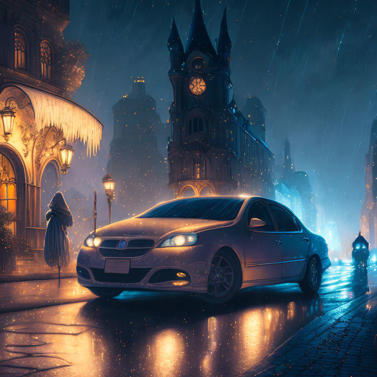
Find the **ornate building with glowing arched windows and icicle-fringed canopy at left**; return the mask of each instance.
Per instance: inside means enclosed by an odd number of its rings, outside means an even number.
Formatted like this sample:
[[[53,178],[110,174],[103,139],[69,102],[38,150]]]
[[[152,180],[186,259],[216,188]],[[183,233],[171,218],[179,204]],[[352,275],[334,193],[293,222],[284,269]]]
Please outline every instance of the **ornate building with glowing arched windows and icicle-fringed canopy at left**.
[[[61,69],[69,1],[1,0],[0,15],[0,205],[12,214],[13,234],[38,258],[42,174],[50,164],[66,174],[78,139],[95,153],[102,124],[63,96],[70,91]]]

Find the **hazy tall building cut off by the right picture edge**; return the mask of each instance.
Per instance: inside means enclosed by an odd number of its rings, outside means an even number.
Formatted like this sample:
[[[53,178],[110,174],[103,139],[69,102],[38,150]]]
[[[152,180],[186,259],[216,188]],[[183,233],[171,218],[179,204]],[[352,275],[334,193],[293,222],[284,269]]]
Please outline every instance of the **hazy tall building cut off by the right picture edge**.
[[[360,213],[360,228],[370,242],[370,249],[377,248],[377,117],[373,120],[369,148],[365,155],[365,198]]]

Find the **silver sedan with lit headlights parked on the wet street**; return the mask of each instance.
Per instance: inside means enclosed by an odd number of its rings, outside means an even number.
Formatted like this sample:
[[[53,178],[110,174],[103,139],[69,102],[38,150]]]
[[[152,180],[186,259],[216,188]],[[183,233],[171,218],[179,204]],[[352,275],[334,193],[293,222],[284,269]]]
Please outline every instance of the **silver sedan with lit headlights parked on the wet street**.
[[[239,289],[298,283],[318,291],[331,265],[325,240],[262,197],[175,199],[87,236],[79,283],[97,296],[125,290],[196,293],[212,303]]]

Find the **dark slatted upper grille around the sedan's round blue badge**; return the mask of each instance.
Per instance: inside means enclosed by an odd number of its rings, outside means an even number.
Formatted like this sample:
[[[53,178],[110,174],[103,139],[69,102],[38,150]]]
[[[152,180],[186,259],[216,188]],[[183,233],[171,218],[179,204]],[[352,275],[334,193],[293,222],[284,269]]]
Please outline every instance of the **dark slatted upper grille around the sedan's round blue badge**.
[[[155,245],[154,240],[135,239],[127,242],[124,249],[118,249],[116,246],[122,239],[104,240],[98,249],[103,257],[108,258],[137,258],[145,255]]]

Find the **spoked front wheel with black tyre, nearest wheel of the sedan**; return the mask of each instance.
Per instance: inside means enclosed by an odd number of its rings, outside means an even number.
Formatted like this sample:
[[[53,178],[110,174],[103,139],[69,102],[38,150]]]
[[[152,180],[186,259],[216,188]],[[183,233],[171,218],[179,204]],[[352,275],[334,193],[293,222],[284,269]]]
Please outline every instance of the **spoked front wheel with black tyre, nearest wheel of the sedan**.
[[[231,300],[241,287],[241,268],[236,256],[226,250],[218,251],[212,259],[207,281],[207,293],[197,296],[209,303]]]

